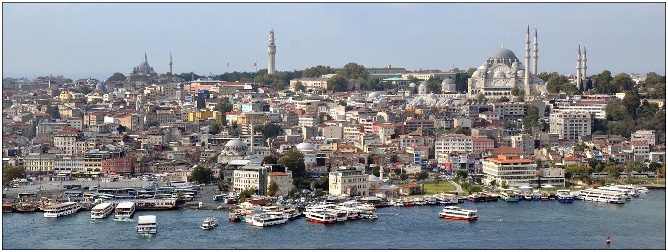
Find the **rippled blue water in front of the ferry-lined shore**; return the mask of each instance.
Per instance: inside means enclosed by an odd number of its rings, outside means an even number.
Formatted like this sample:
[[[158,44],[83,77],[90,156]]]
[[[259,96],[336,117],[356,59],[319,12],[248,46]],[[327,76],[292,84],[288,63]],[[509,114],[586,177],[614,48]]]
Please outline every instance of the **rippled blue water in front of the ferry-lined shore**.
[[[440,206],[385,207],[379,219],[323,225],[230,223],[226,212],[138,211],[132,220],[90,219],[90,211],[46,219],[3,215],[3,249],[666,249],[666,192],[625,204],[505,201],[460,204],[477,221],[440,218]],[[139,215],[156,215],[156,235],[136,235]],[[207,217],[215,229],[199,228]],[[606,244],[607,235],[611,244]]]

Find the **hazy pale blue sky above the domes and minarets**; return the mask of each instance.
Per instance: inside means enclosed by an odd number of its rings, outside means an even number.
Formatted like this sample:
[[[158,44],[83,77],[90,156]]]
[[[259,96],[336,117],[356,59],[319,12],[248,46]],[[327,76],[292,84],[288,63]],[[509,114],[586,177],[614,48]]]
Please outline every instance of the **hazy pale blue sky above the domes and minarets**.
[[[160,74],[208,76],[349,62],[448,71],[478,68],[503,44],[524,63],[538,26],[538,72],[666,68],[665,3],[3,3],[3,78],[63,74],[104,80],[144,60]],[[533,45],[532,49],[533,49]],[[533,67],[531,66],[530,69]]]

